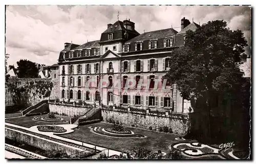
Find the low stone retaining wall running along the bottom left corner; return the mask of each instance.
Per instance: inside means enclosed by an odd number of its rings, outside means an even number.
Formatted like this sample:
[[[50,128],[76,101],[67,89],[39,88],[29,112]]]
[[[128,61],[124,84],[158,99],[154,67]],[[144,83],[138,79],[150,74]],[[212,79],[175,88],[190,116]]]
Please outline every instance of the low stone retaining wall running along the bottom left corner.
[[[17,131],[14,129],[6,128],[5,137],[10,140],[24,142],[28,145],[31,145],[43,150],[48,150],[48,151],[59,150],[61,152],[66,152],[68,155],[79,152],[79,150],[72,148],[68,145],[56,143],[54,141],[40,138],[39,136],[24,133],[22,131]]]

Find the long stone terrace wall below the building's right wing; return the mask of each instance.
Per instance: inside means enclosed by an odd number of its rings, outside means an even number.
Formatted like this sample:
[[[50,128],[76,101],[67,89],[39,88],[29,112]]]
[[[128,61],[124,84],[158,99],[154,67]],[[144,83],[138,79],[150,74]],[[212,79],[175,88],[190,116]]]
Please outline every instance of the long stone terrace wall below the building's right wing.
[[[103,121],[114,119],[127,126],[135,126],[144,129],[158,130],[159,127],[172,128],[175,134],[184,135],[188,130],[188,115],[175,113],[169,116],[155,116],[153,114],[138,114],[123,111],[101,110]]]

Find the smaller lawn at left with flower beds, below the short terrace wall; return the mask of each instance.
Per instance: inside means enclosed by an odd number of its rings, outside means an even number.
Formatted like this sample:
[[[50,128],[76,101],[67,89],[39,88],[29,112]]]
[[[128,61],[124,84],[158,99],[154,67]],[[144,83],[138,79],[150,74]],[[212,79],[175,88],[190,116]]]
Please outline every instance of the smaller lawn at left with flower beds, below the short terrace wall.
[[[47,117],[48,115],[42,115],[42,117]],[[68,116],[59,116],[55,115],[56,117],[63,118],[65,121],[69,121],[70,117]],[[29,117],[20,117],[20,118],[12,118],[12,119],[6,119],[5,122],[19,125],[19,126],[24,126],[24,127],[31,127],[35,125],[52,125],[54,122],[39,122],[39,121],[34,121],[32,120],[34,117],[37,116],[29,116]],[[56,122],[57,125],[59,124],[68,124],[68,122]]]

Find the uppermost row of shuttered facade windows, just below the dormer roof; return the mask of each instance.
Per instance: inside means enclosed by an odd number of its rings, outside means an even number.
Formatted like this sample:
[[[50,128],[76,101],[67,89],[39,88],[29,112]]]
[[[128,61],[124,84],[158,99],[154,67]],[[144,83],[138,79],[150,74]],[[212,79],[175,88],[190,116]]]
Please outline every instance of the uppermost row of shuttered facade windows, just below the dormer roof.
[[[167,70],[170,67],[170,59],[163,59],[163,70]],[[150,59],[147,60],[147,71],[157,71],[158,68],[158,60]],[[77,74],[82,73],[82,65],[76,65]],[[113,63],[109,62],[108,71],[113,70]],[[142,72],[143,71],[143,60],[134,61],[134,71]],[[130,61],[122,61],[121,62],[121,72],[130,72]],[[70,66],[70,74],[74,74],[74,65]],[[91,73],[91,64],[86,64],[85,73]],[[94,64],[94,73],[99,73],[99,63]],[[65,66],[62,66],[62,74],[65,74]]]

